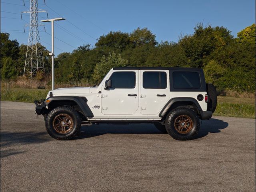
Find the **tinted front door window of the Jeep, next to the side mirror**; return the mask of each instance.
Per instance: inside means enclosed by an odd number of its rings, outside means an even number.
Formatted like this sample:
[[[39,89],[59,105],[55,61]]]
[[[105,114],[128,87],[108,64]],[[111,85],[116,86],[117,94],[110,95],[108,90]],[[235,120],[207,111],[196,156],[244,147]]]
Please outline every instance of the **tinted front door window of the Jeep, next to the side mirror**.
[[[133,71],[114,72],[109,78],[112,80],[111,88],[133,89],[135,88],[136,74]]]

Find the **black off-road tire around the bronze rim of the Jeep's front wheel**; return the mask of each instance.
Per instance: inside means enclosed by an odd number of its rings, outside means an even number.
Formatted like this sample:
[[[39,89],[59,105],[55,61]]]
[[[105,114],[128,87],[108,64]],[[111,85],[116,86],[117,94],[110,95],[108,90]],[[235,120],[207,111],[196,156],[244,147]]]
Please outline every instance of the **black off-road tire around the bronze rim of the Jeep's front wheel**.
[[[56,128],[54,128],[54,118],[60,114],[69,116],[72,119],[72,129],[67,133],[58,133]],[[57,140],[69,140],[79,133],[81,128],[81,118],[78,112],[73,108],[69,106],[58,106],[48,113],[45,126],[48,134],[52,136],[52,138]]]

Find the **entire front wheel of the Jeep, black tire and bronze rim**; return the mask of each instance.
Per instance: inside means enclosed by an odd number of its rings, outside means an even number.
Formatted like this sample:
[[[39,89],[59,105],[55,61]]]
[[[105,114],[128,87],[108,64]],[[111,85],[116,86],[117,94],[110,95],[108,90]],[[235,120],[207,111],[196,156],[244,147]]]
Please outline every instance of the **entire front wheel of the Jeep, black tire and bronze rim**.
[[[46,117],[46,130],[57,140],[68,140],[74,137],[81,128],[81,118],[76,110],[68,106],[59,106]]]

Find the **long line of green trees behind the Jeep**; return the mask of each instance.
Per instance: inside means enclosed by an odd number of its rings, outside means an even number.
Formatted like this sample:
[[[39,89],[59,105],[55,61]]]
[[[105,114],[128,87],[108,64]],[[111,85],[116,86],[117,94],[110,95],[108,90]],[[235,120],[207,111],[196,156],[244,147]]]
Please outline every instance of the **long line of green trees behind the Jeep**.
[[[49,75],[50,58],[43,48]],[[147,28],[111,31],[92,48],[82,45],[72,53],[59,54],[55,77],[56,82],[96,84],[114,66],[195,67],[202,68],[206,82],[218,90],[255,92],[255,51],[255,24],[238,32],[237,38],[223,26],[198,24],[193,34],[180,36],[178,42],[157,42]],[[1,78],[22,75],[25,53],[25,45],[1,33]]]

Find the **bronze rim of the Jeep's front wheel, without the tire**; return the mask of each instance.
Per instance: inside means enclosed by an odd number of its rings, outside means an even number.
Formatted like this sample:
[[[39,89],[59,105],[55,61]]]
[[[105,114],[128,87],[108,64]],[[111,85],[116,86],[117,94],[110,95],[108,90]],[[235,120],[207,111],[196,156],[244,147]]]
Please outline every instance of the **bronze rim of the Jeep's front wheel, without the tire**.
[[[58,114],[53,122],[53,128],[57,133],[66,134],[74,128],[73,119],[68,114]]]

